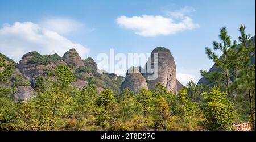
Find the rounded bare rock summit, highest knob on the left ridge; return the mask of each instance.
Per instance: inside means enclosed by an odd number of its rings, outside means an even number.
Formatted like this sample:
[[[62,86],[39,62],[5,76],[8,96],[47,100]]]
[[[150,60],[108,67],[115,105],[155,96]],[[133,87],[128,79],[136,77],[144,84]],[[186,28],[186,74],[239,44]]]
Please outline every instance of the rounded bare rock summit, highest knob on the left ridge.
[[[81,57],[76,52],[76,49],[70,49],[63,55],[63,60],[69,65],[71,68],[78,68],[79,66],[84,66],[84,62],[82,62]]]

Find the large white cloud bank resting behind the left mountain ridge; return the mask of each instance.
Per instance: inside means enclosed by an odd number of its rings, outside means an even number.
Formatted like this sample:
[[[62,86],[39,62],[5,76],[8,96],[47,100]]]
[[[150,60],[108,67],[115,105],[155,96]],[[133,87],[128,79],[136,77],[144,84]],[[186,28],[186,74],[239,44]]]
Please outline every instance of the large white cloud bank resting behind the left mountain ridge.
[[[4,24],[0,28],[0,52],[16,62],[30,51],[63,56],[71,48],[75,48],[82,58],[89,52],[89,48],[32,22]]]

